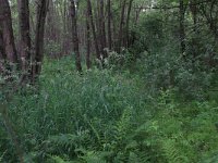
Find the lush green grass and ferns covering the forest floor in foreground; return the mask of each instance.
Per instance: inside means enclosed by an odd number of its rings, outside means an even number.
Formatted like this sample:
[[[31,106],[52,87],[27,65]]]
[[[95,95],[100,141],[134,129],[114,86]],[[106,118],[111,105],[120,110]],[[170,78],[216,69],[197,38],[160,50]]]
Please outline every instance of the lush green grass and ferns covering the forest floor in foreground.
[[[37,89],[8,103],[25,162],[215,163],[216,100],[181,102],[173,89],[152,96],[137,75],[46,60]],[[17,162],[3,125],[0,162]]]

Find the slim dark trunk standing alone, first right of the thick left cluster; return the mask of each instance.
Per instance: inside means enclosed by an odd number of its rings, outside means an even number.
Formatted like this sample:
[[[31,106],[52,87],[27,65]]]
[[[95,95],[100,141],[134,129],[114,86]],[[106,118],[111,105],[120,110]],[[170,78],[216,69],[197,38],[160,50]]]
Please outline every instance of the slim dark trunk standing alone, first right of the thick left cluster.
[[[76,9],[74,0],[71,0],[71,21],[72,21],[72,38],[73,38],[73,50],[75,52],[75,64],[76,70],[82,72],[81,65],[81,54],[78,48],[78,36],[77,36],[77,18],[76,18]]]

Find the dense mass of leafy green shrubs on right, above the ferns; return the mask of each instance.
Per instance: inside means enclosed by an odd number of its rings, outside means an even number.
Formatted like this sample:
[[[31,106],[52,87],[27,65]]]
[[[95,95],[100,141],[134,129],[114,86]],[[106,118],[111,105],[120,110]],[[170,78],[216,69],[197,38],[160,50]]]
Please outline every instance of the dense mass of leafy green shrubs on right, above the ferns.
[[[204,100],[216,70],[216,42],[205,27],[201,33],[186,30],[186,50],[181,54],[178,17],[168,14],[177,12],[146,12],[132,28],[132,58],[128,53],[125,58],[133,62],[126,67],[144,78],[149,92],[173,88],[182,99]]]

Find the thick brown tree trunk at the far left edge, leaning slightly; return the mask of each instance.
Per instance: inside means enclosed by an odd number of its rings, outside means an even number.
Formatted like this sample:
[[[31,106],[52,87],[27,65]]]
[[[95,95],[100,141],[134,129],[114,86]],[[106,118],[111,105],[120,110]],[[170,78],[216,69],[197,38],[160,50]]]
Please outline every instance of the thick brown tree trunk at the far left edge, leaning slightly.
[[[0,22],[7,59],[11,63],[17,63],[9,1],[0,0]]]

